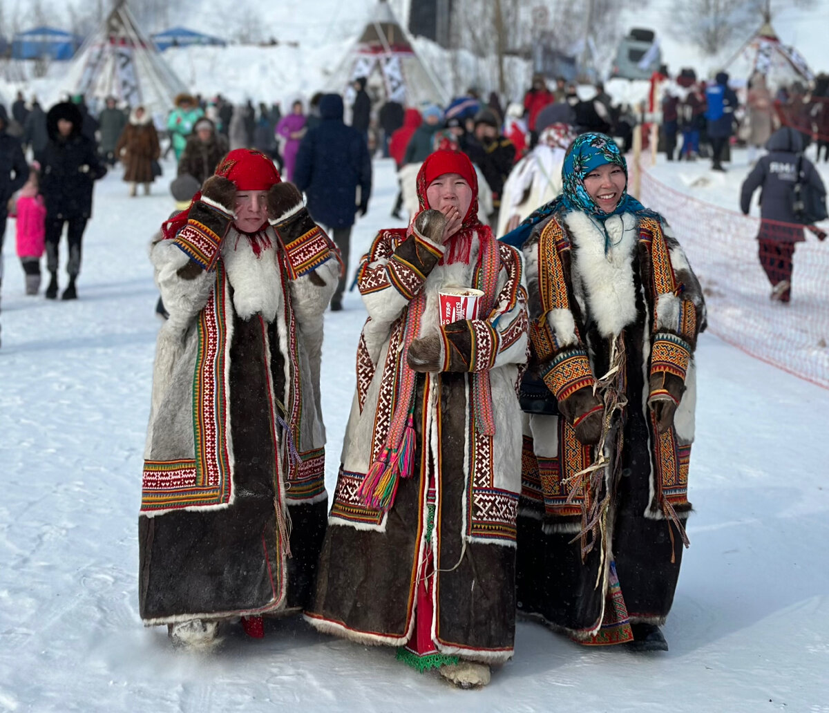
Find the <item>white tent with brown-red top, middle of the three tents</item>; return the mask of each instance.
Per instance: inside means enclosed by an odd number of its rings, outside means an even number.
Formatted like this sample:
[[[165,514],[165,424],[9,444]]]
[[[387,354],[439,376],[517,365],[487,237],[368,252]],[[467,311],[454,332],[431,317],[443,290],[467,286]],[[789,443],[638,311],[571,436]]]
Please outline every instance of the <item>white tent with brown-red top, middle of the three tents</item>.
[[[365,29],[333,73],[329,89],[345,92],[357,77],[367,78],[369,94],[381,104],[389,99],[407,106],[448,101],[444,86],[385,0],[371,11]]]

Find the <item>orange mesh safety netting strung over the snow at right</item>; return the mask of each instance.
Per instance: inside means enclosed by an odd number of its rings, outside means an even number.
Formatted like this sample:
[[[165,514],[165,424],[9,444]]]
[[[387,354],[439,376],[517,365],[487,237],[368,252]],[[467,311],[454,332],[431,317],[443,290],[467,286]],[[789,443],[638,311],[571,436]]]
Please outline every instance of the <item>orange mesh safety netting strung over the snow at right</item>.
[[[829,240],[784,243],[771,254],[757,240],[759,218],[677,192],[642,171],[638,198],[667,218],[700,279],[711,332],[735,347],[829,389]],[[801,226],[766,221],[767,238]],[[819,226],[829,231],[827,223]],[[764,247],[779,245],[769,240]],[[788,245],[788,247],[787,247]],[[761,264],[761,260],[764,264]],[[791,274],[791,301],[770,298]],[[783,294],[783,298],[786,295]]]

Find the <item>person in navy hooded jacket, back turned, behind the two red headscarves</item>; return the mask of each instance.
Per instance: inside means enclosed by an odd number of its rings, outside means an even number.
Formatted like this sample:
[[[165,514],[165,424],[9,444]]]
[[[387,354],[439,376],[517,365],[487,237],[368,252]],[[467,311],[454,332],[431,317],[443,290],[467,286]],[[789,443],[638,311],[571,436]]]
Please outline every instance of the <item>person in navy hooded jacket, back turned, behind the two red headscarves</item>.
[[[337,312],[342,309],[354,214],[359,210],[365,216],[368,211],[371,158],[361,133],[342,121],[340,95],[324,95],[319,113],[320,124],[310,129],[299,144],[293,182],[308,197],[313,220],[331,230],[340,250],[343,272],[331,300],[332,311]]]

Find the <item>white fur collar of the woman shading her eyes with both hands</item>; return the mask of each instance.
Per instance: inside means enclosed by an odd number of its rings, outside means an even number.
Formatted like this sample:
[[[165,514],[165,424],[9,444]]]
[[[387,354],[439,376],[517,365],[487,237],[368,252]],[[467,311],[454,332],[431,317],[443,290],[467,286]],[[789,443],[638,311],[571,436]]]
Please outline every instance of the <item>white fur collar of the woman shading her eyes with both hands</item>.
[[[240,235],[232,226],[222,240],[221,257],[233,287],[233,306],[242,319],[259,313],[267,322],[273,322],[283,304],[279,240],[273,228],[268,228],[267,235],[272,247],[263,250],[259,257],[245,235]]]

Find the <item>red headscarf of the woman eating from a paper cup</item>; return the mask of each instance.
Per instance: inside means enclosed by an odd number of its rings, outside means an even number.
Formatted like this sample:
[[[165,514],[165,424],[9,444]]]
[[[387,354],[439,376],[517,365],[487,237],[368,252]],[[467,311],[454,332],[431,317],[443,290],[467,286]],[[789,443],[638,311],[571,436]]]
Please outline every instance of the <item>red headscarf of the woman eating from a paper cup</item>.
[[[484,240],[493,240],[493,238],[492,230],[489,229],[489,226],[484,226],[478,220],[478,175],[475,173],[475,167],[465,153],[439,149],[426,157],[417,174],[417,197],[420,208],[412,217],[410,230],[412,230],[417,216],[422,211],[429,210],[426,189],[435,178],[443,176],[444,173],[458,173],[469,184],[469,187],[472,188],[472,201],[469,203],[469,210],[466,216],[463,216],[460,229],[449,238],[447,243],[448,250],[444,257],[440,259],[440,263],[451,264],[453,262],[463,262],[468,264],[472,250],[473,232],[478,232],[478,238],[481,242]]]

